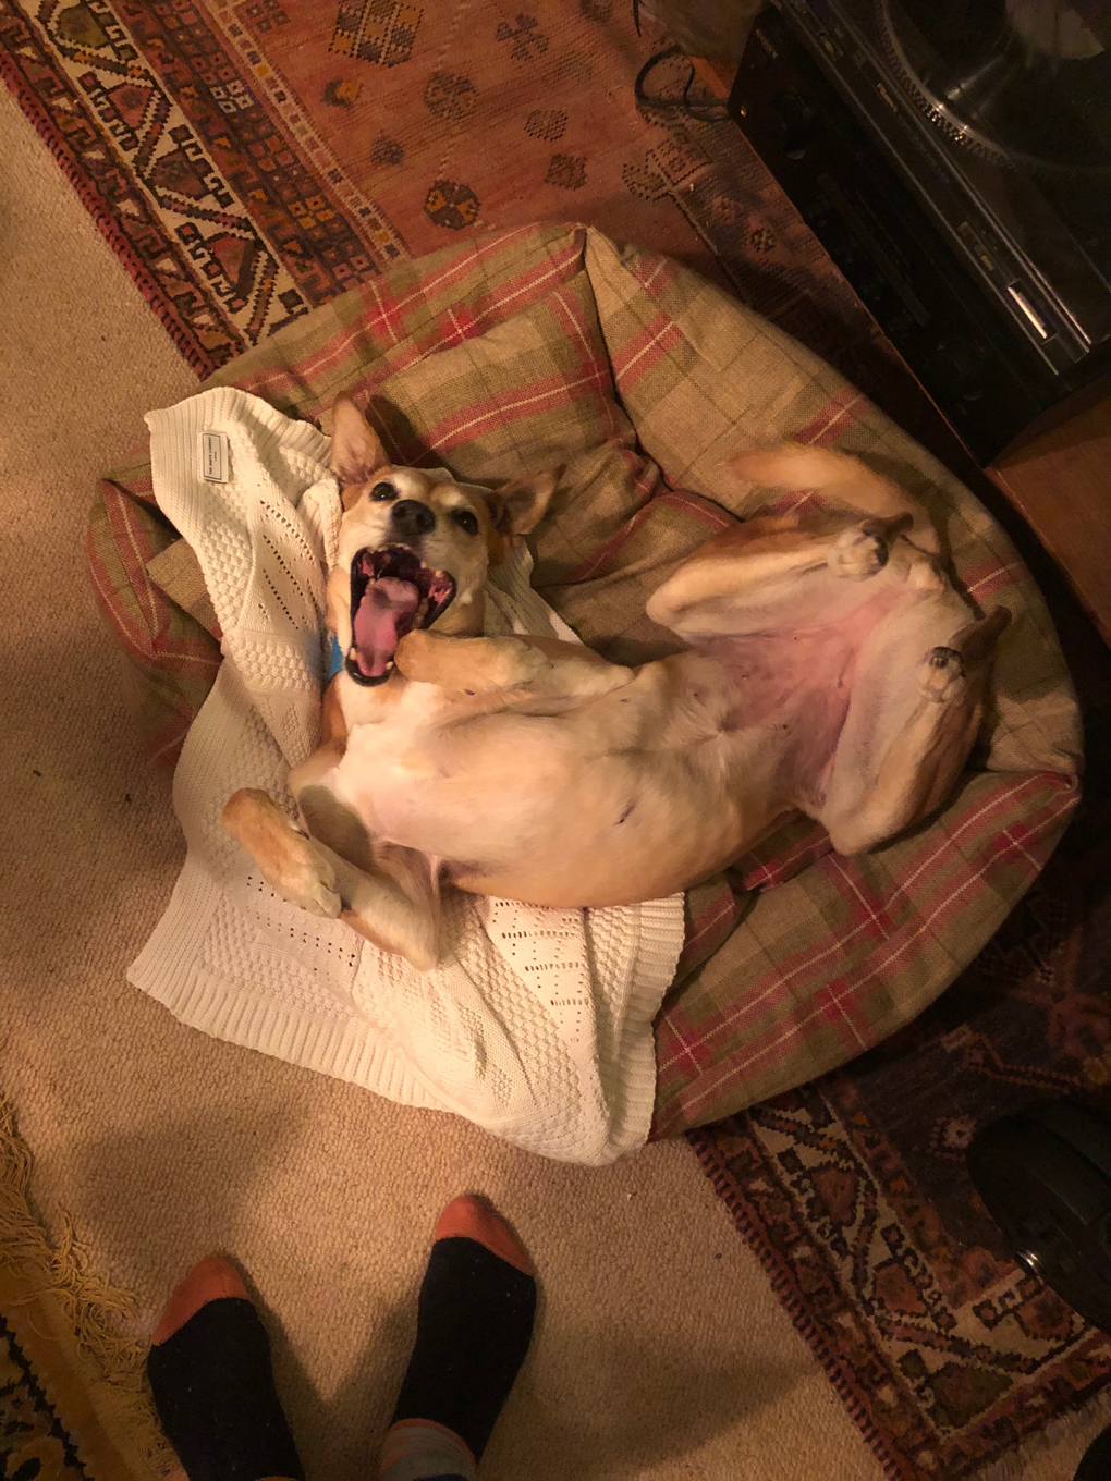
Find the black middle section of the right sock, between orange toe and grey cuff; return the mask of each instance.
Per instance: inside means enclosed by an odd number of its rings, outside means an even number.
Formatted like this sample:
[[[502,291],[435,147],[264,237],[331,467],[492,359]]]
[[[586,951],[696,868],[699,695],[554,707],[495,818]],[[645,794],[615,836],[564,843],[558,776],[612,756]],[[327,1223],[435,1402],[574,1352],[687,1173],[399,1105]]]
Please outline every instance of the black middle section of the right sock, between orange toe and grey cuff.
[[[524,1363],[535,1315],[532,1275],[477,1240],[437,1240],[393,1423],[427,1419],[443,1425],[477,1460]]]

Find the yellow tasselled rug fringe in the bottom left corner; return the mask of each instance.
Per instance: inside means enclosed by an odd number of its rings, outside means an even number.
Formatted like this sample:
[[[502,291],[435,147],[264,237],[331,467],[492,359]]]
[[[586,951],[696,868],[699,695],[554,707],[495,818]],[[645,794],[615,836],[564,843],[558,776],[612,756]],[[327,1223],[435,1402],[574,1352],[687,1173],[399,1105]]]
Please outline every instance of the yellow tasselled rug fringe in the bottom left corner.
[[[52,1244],[31,1211],[33,1158],[19,1136],[15,1111],[0,1093],[0,1263],[27,1283],[27,1299],[52,1299],[74,1333],[86,1360],[83,1374],[105,1429],[119,1444],[126,1440],[154,1475],[175,1471],[176,1457],[161,1434],[144,1373],[145,1346],[124,1334],[133,1302],[92,1268],[87,1247],[73,1220],[62,1216],[62,1232]]]

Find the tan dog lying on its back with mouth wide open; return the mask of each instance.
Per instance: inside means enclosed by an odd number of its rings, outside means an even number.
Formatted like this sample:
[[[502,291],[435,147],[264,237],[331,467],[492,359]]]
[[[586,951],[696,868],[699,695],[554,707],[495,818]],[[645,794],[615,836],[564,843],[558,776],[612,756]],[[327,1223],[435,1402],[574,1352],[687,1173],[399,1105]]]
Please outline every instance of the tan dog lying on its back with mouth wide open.
[[[647,606],[689,652],[638,668],[478,635],[487,566],[553,480],[492,495],[390,467],[347,400],[332,465],[329,624],[347,661],[323,743],[290,775],[308,832],[255,789],[224,819],[278,893],[416,967],[438,958],[441,881],[536,905],[647,900],[795,812],[858,853],[939,807],[967,758],[1009,615],[976,621],[924,511],[852,458],[733,459],[855,512],[754,518],[702,546]]]

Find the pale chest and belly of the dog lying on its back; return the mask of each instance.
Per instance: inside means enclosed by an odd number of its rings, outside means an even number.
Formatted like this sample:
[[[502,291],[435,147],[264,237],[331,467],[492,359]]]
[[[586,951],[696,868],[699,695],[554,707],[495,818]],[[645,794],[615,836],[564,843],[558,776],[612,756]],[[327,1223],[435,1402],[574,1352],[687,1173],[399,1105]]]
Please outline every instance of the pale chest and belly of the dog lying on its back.
[[[360,726],[330,785],[373,835],[443,859],[465,890],[563,906],[670,895],[721,868],[775,816],[766,736],[627,745],[618,703]],[[641,712],[646,729],[662,723]],[[745,785],[733,785],[739,776]]]

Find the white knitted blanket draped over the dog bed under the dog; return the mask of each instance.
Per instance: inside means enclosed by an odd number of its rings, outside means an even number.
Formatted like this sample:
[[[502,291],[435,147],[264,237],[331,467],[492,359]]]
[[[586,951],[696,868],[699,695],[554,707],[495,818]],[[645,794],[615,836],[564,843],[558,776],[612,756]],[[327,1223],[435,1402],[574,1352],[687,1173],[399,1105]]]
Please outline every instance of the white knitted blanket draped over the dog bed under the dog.
[[[233,388],[147,425],[154,493],[204,572],[224,663],[173,778],[185,866],[130,982],[193,1028],[455,1111],[529,1151],[594,1164],[635,1151],[681,895],[558,911],[449,892],[443,964],[428,973],[276,896],[219,812],[261,786],[292,816],[286,775],[317,743],[339,524],[329,443]],[[529,570],[520,552],[492,573],[487,631],[573,638]]]

